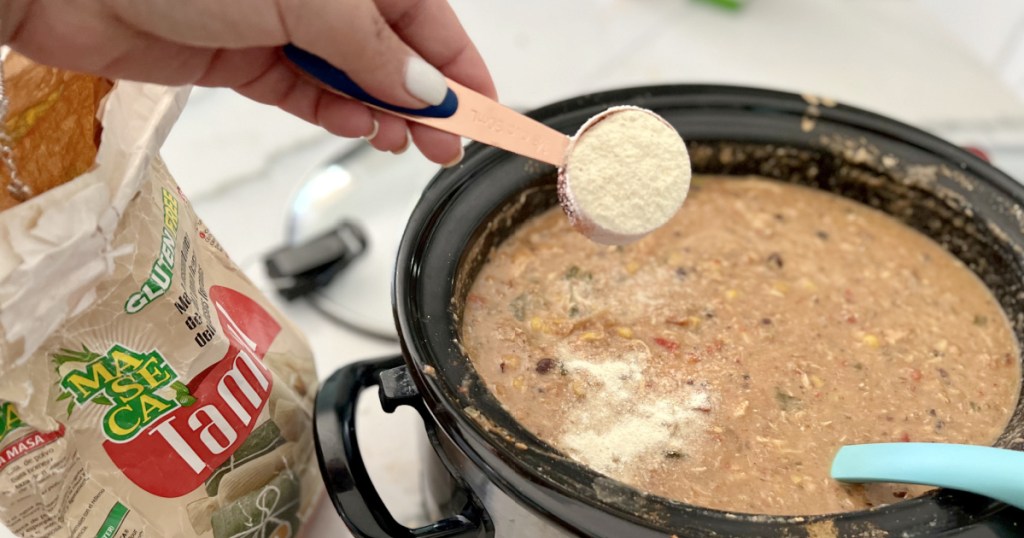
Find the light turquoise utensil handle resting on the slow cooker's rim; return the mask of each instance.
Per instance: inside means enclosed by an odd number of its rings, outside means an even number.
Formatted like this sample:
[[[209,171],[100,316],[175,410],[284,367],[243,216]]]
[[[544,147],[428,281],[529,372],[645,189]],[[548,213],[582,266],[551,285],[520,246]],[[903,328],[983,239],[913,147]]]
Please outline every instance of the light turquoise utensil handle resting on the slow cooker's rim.
[[[850,445],[833,459],[831,477],[950,488],[1024,509],[1024,453],[1016,450],[941,443]]]

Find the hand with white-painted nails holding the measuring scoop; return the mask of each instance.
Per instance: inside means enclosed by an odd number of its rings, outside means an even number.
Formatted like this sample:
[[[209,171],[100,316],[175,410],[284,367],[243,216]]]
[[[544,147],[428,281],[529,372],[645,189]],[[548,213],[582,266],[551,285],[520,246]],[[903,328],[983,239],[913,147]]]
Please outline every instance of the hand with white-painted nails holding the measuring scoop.
[[[317,54],[400,107],[439,104],[441,73],[497,96],[445,0],[0,0],[0,43],[113,79],[230,87],[378,150],[400,153],[411,137],[439,164],[462,158],[459,137],[322,89],[280,47]]]

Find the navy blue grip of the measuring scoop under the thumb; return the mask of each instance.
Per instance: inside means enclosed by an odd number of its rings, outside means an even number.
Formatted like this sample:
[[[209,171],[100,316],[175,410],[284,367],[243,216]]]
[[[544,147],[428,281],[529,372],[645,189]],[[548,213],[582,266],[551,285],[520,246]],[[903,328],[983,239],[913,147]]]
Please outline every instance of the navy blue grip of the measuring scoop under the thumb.
[[[459,97],[449,88],[444,95],[444,100],[440,105],[433,105],[423,109],[407,109],[395,107],[384,102],[367,93],[359,87],[344,71],[328,64],[326,59],[303,50],[295,45],[288,44],[282,47],[285,57],[287,57],[296,68],[306,75],[316,79],[334,91],[343,93],[348,97],[371,105],[381,110],[404,114],[406,116],[421,116],[424,118],[450,118],[459,108]]]

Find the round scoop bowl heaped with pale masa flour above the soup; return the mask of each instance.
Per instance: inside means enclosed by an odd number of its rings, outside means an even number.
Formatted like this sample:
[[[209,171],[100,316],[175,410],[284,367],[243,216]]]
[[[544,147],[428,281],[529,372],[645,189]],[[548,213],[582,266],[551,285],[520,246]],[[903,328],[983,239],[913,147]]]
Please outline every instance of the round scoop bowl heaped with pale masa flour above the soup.
[[[559,198],[572,224],[599,243],[636,241],[686,199],[690,158],[672,125],[636,107],[591,118],[569,144]]]

